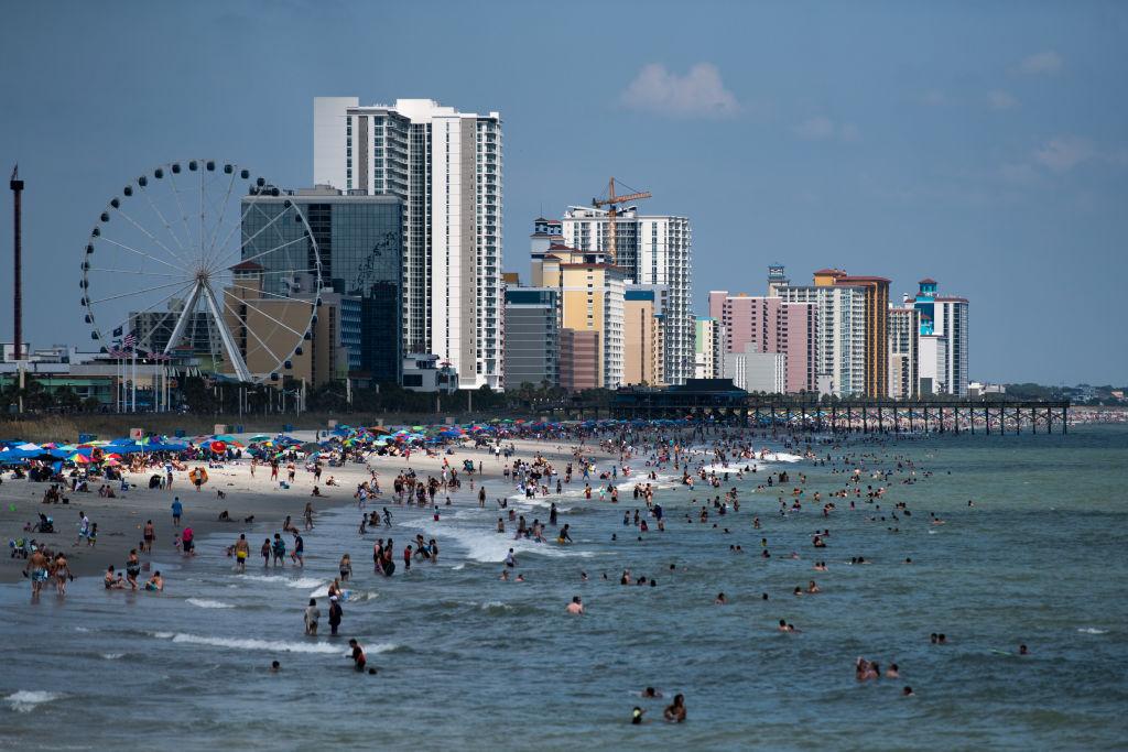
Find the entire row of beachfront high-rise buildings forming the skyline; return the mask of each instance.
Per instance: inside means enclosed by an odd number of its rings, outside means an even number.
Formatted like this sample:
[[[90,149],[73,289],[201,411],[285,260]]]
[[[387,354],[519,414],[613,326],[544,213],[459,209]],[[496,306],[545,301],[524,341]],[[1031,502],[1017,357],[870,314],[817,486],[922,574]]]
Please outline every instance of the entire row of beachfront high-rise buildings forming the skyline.
[[[714,290],[696,315],[690,219],[640,211],[651,194],[616,194],[614,178],[591,206],[534,220],[528,276],[503,274],[502,152],[497,112],[316,97],[312,187],[259,179],[241,198],[241,260],[220,301],[232,352],[264,373],[279,364],[263,353],[292,350],[271,378],[310,387],[405,386],[408,368],[424,390],[729,378],[792,395],[969,393],[969,302],[935,280],[893,303],[887,277],[828,267],[802,284],[776,264],[763,293]],[[293,206],[306,224],[277,221]],[[206,362],[206,325],[174,329],[185,304],[131,313],[131,335],[227,373]]]

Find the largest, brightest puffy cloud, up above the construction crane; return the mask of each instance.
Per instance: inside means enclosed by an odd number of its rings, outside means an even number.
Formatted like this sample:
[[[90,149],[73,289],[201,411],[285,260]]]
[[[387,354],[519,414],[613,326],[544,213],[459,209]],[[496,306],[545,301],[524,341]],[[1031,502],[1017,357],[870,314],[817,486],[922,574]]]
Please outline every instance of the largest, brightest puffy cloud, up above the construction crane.
[[[633,109],[677,117],[724,117],[740,110],[737,97],[724,88],[721,72],[711,63],[697,63],[685,76],[650,63],[619,98]]]

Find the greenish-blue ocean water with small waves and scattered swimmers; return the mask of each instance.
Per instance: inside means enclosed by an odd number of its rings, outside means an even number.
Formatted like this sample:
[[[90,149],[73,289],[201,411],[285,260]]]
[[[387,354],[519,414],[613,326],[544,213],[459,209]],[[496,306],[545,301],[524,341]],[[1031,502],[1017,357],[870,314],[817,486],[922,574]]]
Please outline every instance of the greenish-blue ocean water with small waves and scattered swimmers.
[[[557,499],[576,541],[567,548],[494,533],[492,508],[459,504],[434,522],[388,504],[396,548],[435,537],[438,564],[405,576],[397,556],[394,577],[373,574],[372,541],[387,531],[361,540],[359,513],[341,510],[306,536],[305,569],[264,570],[253,557],[237,575],[230,541],[203,540],[191,563],[158,552],[161,595],[85,578],[65,602],[30,604],[26,585],[0,587],[0,747],[1125,749],[1128,428],[819,451],[875,453],[863,475],[908,457],[918,483],[895,475],[880,510],[836,499],[825,519],[807,501],[781,516],[776,493],[754,493],[765,471],[786,469],[787,488],[807,474],[807,497],[843,476],[765,463],[723,485],[740,490],[740,513],[707,524],[691,499],[717,492],[664,484],[667,531],[642,541],[622,524],[640,506],[629,493],[613,506],[573,484]],[[911,516],[892,521],[897,502]],[[547,520],[543,503],[514,504]],[[825,528],[829,547],[817,550],[810,536]],[[738,543],[744,554],[730,551]],[[526,583],[497,578],[510,546]],[[305,637],[302,609],[346,550],[343,637]],[[852,566],[854,556],[872,564]],[[813,572],[816,559],[830,570]],[[619,585],[627,567],[658,586]],[[791,594],[810,580],[823,592]],[[729,605],[713,604],[719,591]],[[564,613],[574,594],[583,618]],[[778,632],[779,619],[801,631]],[[950,644],[929,645],[929,632]],[[378,675],[351,670],[351,636]],[[1014,655],[1020,643],[1031,655]],[[857,656],[899,664],[901,679],[858,684]],[[906,684],[915,697],[901,697]],[[638,698],[645,685],[685,693],[688,722],[661,723],[663,701]],[[628,723],[634,705],[647,710],[642,726]]]

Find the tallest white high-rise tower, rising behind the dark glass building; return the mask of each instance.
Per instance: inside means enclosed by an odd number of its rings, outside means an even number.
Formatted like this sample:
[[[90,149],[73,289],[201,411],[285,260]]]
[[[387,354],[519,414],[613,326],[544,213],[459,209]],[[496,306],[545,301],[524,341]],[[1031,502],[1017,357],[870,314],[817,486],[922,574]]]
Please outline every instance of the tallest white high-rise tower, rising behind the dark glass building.
[[[504,383],[501,115],[431,99],[314,100],[314,179],[403,201],[403,348],[461,388]]]

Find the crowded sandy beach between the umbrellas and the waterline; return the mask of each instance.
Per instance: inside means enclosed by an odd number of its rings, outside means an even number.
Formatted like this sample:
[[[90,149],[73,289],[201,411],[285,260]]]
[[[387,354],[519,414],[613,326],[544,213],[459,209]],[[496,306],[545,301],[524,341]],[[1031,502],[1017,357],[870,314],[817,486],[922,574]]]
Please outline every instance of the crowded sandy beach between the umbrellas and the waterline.
[[[250,435],[253,434],[239,437],[247,439]],[[297,431],[291,435],[302,441],[316,439],[314,431]],[[572,459],[572,448],[555,441],[505,442],[506,445],[509,443],[514,444],[518,457],[526,459],[538,452],[549,461],[562,466]],[[472,446],[451,446],[451,450],[453,452],[451,454],[440,453],[435,457],[413,452],[409,460],[404,457],[381,457],[372,453],[368,458],[367,466],[376,470],[384,490],[377,503],[381,505],[390,503],[391,481],[400,470],[411,467],[424,479],[430,475],[438,477],[442,471],[444,459],[458,469],[467,459],[473,460],[475,466],[481,462],[483,468],[482,476],[475,474],[474,490],[472,492],[469,483],[464,483],[457,493],[450,494],[453,501],[461,503],[470,501],[483,483],[487,493],[496,488],[496,494],[491,496],[491,501],[494,496],[511,493],[502,475],[504,463],[496,460],[491,452]],[[585,451],[598,455],[598,452],[592,452],[591,446],[585,448]],[[356,486],[369,479],[365,465],[349,462],[343,467],[325,467],[321,483],[318,484],[321,495],[315,497],[311,496],[314,475],[305,468],[303,462],[296,463],[298,472],[294,484],[283,489],[277,480],[270,479],[270,467],[259,466],[253,477],[250,459],[245,458],[227,462],[222,469],[210,469],[208,483],[202,490],[196,492],[187,477],[188,470],[193,467],[196,467],[196,463],[190,463],[183,471],[175,471],[171,488],[149,489],[149,476],[156,472],[150,469],[141,474],[126,474],[126,479],[134,486],[129,492],[116,492],[114,484],[115,493],[118,494],[116,498],[100,497],[97,493],[97,486],[100,484],[96,483],[88,493],[64,494],[70,499],[69,504],[44,504],[43,493],[50,484],[32,483],[26,479],[14,480],[11,474],[6,472],[3,483],[0,484],[0,537],[5,542],[18,538],[33,538],[52,550],[62,550],[76,577],[102,576],[111,564],[118,569],[124,566],[130,549],[140,550],[142,528],[148,520],[152,520],[157,536],[153,556],[168,558],[168,554],[174,550],[174,541],[179,530],[174,525],[171,515],[171,504],[176,497],[179,497],[184,511],[180,529],[191,527],[197,539],[213,533],[229,532],[231,542],[235,542],[239,533],[247,533],[248,539],[255,541],[265,533],[273,534],[281,530],[287,515],[300,522],[307,502],[312,503],[315,512],[356,504],[353,496]],[[280,477],[285,477],[284,466]],[[327,486],[329,477],[334,477],[340,485]],[[506,484],[505,487],[503,484]],[[226,498],[220,498],[218,490],[222,490]],[[230,521],[219,520],[223,511],[228,512]],[[55,532],[45,534],[25,532],[25,525],[36,522],[41,512],[53,517]],[[88,546],[85,540],[81,545],[76,545],[83,513],[91,523],[98,525],[95,547]],[[245,522],[250,516],[254,517],[254,522]],[[257,550],[257,547],[253,548]],[[0,583],[26,582],[23,574],[26,560],[12,558],[9,554],[10,549],[0,565]],[[143,563],[148,558],[146,555],[141,556]]]

